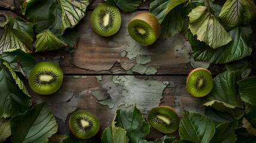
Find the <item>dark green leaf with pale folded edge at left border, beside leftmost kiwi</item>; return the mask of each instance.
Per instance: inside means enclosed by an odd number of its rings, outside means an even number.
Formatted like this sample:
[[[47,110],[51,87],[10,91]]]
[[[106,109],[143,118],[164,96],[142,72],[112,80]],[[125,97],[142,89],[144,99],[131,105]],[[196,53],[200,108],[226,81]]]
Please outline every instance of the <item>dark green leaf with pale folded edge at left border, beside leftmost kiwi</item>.
[[[23,83],[6,62],[0,64],[0,91],[0,117],[24,113],[32,104]]]

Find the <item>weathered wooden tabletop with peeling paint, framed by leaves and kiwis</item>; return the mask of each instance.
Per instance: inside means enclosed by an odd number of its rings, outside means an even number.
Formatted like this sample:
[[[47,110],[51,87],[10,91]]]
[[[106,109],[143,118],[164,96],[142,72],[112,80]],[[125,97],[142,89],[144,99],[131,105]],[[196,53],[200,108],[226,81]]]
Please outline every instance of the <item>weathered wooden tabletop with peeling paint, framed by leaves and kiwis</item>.
[[[13,1],[4,2],[12,4]],[[166,40],[160,37],[150,46],[141,46],[131,39],[127,24],[134,15],[149,11],[148,2],[143,2],[132,13],[121,12],[122,25],[118,33],[99,36],[91,28],[90,16],[100,2],[91,2],[87,15],[79,23],[76,48],[33,54],[38,61],[58,63],[64,71],[63,85],[53,95],[35,94],[27,86],[34,103],[48,102],[59,125],[58,133],[69,133],[69,116],[76,110],[88,110],[98,117],[101,123],[98,138],[112,122],[117,108],[128,109],[136,104],[145,117],[150,108],[158,105],[174,107],[179,117],[183,110],[201,113],[199,98],[186,91],[186,77],[193,68],[209,64],[193,60],[184,36],[177,34]],[[109,98],[112,102],[106,102]],[[172,135],[177,136],[177,132]],[[152,129],[147,139],[161,136],[162,133]]]

